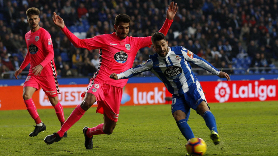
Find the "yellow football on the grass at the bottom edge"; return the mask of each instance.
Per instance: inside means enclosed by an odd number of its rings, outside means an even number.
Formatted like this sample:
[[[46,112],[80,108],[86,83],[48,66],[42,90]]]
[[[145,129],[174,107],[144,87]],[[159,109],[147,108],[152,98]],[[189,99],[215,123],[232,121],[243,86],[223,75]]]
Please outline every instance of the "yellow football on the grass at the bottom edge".
[[[201,138],[192,138],[186,143],[186,150],[190,155],[204,155],[207,151],[207,144]]]

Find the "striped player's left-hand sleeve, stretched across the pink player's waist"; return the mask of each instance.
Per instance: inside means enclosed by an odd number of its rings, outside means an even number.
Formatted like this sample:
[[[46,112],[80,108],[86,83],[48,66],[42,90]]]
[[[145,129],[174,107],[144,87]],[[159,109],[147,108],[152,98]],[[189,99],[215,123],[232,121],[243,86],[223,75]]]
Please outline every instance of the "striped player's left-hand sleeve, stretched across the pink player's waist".
[[[138,75],[142,72],[150,71],[152,67],[153,67],[153,61],[147,60],[146,62],[138,65],[135,68],[130,68],[130,69],[126,70],[125,72],[121,72],[120,74],[117,74],[117,76],[118,76],[118,79],[129,79],[132,76]]]

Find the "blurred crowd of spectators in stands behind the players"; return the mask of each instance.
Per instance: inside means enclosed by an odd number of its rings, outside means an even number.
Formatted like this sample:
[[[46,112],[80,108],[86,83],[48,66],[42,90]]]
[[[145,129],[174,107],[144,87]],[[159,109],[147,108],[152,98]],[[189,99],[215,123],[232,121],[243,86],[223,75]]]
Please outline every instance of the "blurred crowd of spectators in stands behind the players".
[[[229,74],[243,74],[247,68],[273,67],[278,59],[278,0],[174,2],[179,9],[166,35],[169,47],[186,47]],[[114,32],[114,19],[120,13],[131,17],[129,36],[145,37],[162,27],[169,4],[169,0],[0,0],[0,75],[15,71],[24,60],[24,35],[30,30],[25,12],[30,7],[40,9],[40,26],[52,37],[57,75],[68,77],[92,76],[99,65],[99,49],[75,48],[53,24],[54,11],[81,38]],[[140,49],[134,67],[153,53],[153,48]],[[238,68],[243,70],[234,70]],[[277,70],[249,73],[274,72]]]

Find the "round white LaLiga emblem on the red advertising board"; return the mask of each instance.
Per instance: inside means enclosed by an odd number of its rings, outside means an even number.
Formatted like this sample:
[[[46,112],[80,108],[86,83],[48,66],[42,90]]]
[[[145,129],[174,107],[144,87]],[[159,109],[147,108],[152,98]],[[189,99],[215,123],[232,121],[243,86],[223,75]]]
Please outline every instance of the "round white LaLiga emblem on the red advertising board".
[[[214,88],[214,93],[215,93],[214,97],[217,101],[225,102],[228,101],[231,90],[227,83],[219,82],[217,86]]]

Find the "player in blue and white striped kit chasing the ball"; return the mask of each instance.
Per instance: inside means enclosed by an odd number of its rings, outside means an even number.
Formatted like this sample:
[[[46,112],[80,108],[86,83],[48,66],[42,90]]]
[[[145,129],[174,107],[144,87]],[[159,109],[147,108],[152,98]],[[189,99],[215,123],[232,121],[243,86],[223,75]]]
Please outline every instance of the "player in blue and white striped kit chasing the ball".
[[[153,48],[156,51],[150,55],[150,60],[125,72],[112,73],[110,78],[114,80],[128,79],[141,72],[153,72],[166,86],[172,97],[172,115],[183,136],[189,140],[195,138],[187,124],[190,108],[196,110],[205,120],[210,130],[210,138],[215,145],[219,144],[219,135],[216,121],[207,104],[202,87],[195,74],[191,70],[189,62],[204,68],[208,72],[230,80],[230,76],[219,71],[203,58],[193,54],[184,47],[168,47],[165,35],[156,32],[152,35]]]

